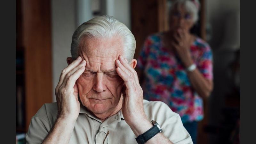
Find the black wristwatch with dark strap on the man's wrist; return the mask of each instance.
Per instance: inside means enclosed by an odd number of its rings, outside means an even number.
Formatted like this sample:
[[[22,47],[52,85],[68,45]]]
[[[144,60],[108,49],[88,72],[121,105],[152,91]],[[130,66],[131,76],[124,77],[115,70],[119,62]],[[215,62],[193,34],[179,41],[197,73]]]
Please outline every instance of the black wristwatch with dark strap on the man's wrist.
[[[136,138],[136,141],[138,142],[138,144],[144,144],[149,139],[154,137],[157,133],[163,132],[161,127],[156,123],[156,121],[152,120],[151,122],[153,124],[153,127],[151,127],[147,132],[142,133]]]

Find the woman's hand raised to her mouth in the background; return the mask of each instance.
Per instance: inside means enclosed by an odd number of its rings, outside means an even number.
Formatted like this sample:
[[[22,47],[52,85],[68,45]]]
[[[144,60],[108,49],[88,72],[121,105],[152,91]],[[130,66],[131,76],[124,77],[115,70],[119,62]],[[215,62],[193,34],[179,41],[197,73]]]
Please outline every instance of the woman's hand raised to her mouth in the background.
[[[192,36],[185,34],[181,29],[173,33],[174,41],[171,42],[172,47],[176,50],[179,58],[183,62],[184,66],[188,68],[193,64],[193,60],[190,54],[190,45],[192,43]]]

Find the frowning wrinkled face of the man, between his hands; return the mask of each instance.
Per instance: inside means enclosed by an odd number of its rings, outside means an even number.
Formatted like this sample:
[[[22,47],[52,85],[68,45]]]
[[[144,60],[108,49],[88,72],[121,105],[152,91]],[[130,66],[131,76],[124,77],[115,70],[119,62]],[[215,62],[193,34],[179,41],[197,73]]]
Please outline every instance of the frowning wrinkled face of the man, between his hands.
[[[76,81],[82,104],[97,117],[105,118],[116,110],[124,82],[116,73],[115,60],[122,55],[120,38],[83,38],[79,55],[86,60],[84,73]]]

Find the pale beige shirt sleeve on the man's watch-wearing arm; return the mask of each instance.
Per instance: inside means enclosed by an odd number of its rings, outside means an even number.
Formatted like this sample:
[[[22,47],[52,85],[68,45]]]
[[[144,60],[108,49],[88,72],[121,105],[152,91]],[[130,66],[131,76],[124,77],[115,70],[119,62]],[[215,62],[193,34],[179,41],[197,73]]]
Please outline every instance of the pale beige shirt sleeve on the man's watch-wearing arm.
[[[151,102],[152,103],[152,102]],[[173,112],[164,102],[154,101],[149,117],[161,126],[163,134],[174,144],[193,144],[191,136],[183,126],[180,115]]]

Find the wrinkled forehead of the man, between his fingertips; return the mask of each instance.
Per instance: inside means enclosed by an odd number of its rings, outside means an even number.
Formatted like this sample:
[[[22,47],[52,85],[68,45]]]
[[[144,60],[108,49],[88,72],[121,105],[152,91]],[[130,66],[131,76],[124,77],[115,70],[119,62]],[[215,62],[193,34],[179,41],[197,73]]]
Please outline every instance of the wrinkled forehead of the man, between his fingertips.
[[[81,39],[79,55],[86,60],[86,68],[107,71],[115,69],[115,60],[123,54],[121,38],[86,38]]]

